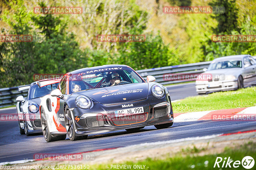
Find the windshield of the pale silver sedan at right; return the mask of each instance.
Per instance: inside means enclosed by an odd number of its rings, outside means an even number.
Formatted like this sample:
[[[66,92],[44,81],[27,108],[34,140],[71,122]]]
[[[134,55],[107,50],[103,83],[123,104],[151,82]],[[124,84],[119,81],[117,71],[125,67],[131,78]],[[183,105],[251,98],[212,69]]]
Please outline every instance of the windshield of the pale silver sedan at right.
[[[222,68],[242,68],[242,61],[231,60],[231,61],[213,61],[208,70],[216,70]]]

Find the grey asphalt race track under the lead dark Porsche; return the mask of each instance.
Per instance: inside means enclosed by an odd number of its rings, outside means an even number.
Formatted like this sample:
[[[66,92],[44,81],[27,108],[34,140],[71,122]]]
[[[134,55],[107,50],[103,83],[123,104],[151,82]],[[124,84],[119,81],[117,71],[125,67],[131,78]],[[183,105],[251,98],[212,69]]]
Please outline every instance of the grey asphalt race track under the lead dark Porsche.
[[[189,86],[188,86],[189,87]],[[172,90],[170,90],[172,94]],[[183,92],[181,92],[183,91]],[[177,91],[184,93],[184,89]],[[178,95],[177,94],[177,95]],[[177,99],[180,99],[177,97]],[[16,113],[16,109],[0,110],[3,113]],[[157,130],[148,126],[136,132],[125,130],[89,135],[88,139],[47,143],[43,135],[20,135],[17,121],[0,121],[0,162],[33,159],[36,153],[78,153],[97,149],[124,147],[145,142],[156,142],[171,139],[206,136],[220,133],[254,130],[256,122],[239,121],[194,121],[175,123],[167,129]]]

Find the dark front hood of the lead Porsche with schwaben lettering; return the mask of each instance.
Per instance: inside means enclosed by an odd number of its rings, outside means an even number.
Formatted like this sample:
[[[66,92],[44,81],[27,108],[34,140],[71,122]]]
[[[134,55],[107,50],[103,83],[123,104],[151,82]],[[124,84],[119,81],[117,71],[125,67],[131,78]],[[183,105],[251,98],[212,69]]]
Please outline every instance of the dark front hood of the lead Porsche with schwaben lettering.
[[[148,97],[148,83],[116,85],[77,92],[102,104],[124,103]]]

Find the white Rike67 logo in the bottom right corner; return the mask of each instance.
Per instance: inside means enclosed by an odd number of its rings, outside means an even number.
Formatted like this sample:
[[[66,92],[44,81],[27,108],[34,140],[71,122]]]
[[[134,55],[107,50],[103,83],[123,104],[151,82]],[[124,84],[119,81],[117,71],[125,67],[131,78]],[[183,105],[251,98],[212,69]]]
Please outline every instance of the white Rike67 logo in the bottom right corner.
[[[221,157],[217,157],[214,163],[214,168],[218,167],[218,168],[238,168],[239,166],[242,166],[245,169],[251,169],[254,166],[254,159],[251,156],[245,156],[242,161],[240,160],[232,160],[230,157],[225,157],[224,159],[222,159]]]

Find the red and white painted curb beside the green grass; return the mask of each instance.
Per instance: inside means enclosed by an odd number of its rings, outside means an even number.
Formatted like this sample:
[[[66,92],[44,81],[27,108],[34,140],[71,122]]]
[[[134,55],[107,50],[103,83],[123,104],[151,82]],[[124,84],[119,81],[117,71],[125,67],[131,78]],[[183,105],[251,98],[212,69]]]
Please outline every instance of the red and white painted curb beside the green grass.
[[[256,106],[247,108],[174,113],[174,122],[190,122],[198,120],[234,120],[256,121]]]

